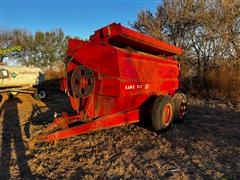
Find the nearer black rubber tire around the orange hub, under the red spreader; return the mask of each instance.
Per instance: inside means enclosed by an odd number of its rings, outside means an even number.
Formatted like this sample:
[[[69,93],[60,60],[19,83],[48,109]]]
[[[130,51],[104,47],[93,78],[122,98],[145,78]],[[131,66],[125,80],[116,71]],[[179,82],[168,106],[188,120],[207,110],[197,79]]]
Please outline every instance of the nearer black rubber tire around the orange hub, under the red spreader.
[[[169,104],[171,107],[171,117],[169,120],[169,123],[166,125],[164,123],[164,118],[163,118],[163,112],[165,106]],[[166,96],[158,96],[153,104],[153,109],[152,109],[152,127],[155,131],[160,131],[164,129],[168,129],[172,125],[173,121],[173,101],[172,97],[169,95]]]

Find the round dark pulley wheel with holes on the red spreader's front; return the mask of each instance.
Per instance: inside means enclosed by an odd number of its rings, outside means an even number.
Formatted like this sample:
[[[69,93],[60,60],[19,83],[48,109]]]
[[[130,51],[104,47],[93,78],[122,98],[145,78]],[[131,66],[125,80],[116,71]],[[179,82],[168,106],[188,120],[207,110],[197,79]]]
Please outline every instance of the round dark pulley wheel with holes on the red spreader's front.
[[[80,98],[88,97],[94,87],[93,72],[84,66],[78,66],[73,71],[71,77],[71,86],[73,93]]]

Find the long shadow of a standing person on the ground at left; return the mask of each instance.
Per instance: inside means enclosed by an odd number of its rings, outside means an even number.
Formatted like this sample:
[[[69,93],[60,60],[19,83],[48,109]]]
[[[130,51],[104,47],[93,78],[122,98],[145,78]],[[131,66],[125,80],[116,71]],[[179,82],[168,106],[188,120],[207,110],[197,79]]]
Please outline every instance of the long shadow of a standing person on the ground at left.
[[[0,108],[0,116],[3,113],[0,179],[10,179],[11,177],[12,149],[16,154],[16,164],[20,171],[20,178],[32,178],[31,170],[27,164],[28,157],[25,154],[26,148],[19,122],[17,109],[19,103],[23,103],[19,98],[7,99]]]

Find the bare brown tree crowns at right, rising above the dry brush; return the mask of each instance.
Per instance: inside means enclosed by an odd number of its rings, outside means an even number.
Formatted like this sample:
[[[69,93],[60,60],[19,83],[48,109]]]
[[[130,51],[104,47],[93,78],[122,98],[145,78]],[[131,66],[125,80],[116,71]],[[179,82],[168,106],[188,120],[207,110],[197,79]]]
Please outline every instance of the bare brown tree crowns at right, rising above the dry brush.
[[[217,61],[240,58],[239,0],[163,0],[131,24],[141,33],[182,47],[181,59],[200,75]]]

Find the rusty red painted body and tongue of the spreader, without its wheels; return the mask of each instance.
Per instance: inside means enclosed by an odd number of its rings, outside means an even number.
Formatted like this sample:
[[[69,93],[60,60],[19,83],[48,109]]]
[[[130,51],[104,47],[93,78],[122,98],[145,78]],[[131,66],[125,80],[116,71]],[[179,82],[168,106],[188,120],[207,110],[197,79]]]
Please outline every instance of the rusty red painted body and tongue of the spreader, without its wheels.
[[[82,113],[77,117],[90,122],[41,135],[40,140],[137,122],[138,108],[150,96],[173,96],[179,88],[179,63],[173,56],[181,55],[182,49],[120,24],[113,23],[95,31],[90,41],[69,39],[68,48],[67,56],[72,60],[66,65],[69,77],[62,78],[61,90],[70,95],[73,109]],[[71,73],[79,65],[94,74],[93,91],[85,98],[76,97],[69,83]],[[86,83],[86,79],[80,78],[79,88]],[[68,122],[69,119],[76,118],[69,117]]]

